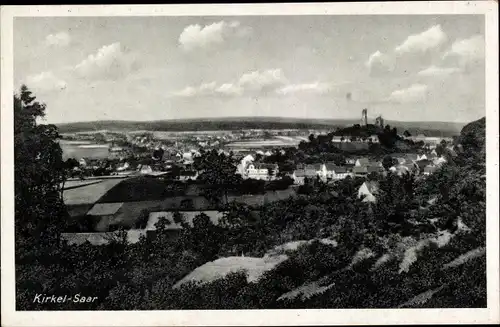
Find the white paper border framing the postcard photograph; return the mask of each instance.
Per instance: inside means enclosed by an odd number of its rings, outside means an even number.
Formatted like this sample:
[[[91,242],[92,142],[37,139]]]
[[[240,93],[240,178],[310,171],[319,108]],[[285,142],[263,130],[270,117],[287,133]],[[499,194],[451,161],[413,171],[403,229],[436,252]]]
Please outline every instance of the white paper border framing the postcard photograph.
[[[14,283],[13,17],[484,14],[487,116],[487,309],[222,310],[16,312]],[[135,6],[4,6],[1,8],[2,326],[199,326],[499,323],[498,4],[369,2]]]

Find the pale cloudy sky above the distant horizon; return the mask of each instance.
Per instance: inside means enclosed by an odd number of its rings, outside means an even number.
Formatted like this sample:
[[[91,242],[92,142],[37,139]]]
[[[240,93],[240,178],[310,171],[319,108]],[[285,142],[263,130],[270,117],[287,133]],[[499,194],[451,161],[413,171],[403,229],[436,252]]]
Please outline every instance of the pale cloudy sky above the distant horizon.
[[[22,17],[14,85],[48,123],[228,116],[468,122],[481,15]]]

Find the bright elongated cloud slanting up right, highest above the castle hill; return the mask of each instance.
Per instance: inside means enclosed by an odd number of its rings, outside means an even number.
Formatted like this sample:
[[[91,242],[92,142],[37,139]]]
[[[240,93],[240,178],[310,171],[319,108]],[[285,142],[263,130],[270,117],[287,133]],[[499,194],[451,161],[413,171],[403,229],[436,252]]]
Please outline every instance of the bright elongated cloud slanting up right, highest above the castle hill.
[[[402,44],[394,49],[394,51],[397,54],[426,52],[429,49],[440,46],[446,42],[446,40],[447,36],[443,32],[441,25],[434,25],[422,33],[408,36]]]

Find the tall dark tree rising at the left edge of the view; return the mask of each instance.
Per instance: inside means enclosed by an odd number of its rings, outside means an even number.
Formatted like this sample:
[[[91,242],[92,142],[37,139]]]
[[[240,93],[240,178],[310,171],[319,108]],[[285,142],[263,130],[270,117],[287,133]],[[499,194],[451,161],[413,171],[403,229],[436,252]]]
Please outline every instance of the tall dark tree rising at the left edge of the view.
[[[67,221],[59,134],[56,126],[37,122],[44,116],[45,105],[23,85],[14,96],[15,229],[20,256],[34,250],[34,244],[58,244]]]

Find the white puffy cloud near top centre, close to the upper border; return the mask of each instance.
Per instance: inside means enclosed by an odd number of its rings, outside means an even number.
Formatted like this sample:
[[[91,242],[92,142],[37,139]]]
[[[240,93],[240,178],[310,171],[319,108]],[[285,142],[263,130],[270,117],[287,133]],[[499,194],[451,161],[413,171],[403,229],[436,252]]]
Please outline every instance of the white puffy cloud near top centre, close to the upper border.
[[[249,27],[242,27],[238,21],[189,25],[180,34],[179,44],[184,50],[191,51],[222,44],[230,38],[244,37],[250,32]]]

